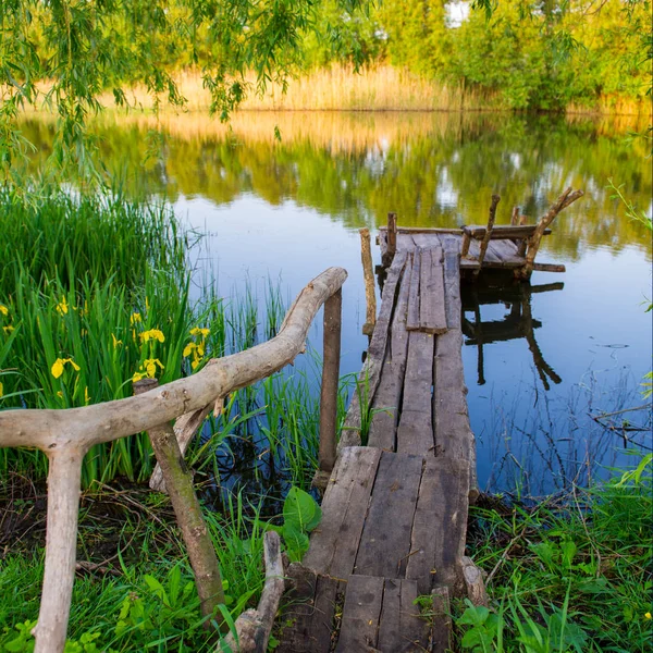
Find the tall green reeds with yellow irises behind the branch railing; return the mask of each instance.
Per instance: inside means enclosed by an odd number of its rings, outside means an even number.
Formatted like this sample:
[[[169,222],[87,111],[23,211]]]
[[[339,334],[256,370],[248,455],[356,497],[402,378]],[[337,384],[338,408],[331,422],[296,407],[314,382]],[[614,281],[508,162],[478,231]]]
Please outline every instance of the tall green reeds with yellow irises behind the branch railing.
[[[269,281],[261,301],[251,284],[221,297],[206,280],[190,300],[190,238],[162,207],[64,194],[33,202],[5,194],[0,207],[0,251],[14,250],[0,281],[1,408],[124,398],[138,378],[168,383],[279,331],[287,305],[279,283]],[[232,489],[249,481],[248,493],[279,500],[289,483],[308,489],[318,449],[315,367],[234,393],[206,423],[192,464],[221,490],[223,480]],[[155,463],[145,433],[97,445],[83,483],[143,481]],[[12,470],[45,478],[46,458],[0,449],[0,472]]]

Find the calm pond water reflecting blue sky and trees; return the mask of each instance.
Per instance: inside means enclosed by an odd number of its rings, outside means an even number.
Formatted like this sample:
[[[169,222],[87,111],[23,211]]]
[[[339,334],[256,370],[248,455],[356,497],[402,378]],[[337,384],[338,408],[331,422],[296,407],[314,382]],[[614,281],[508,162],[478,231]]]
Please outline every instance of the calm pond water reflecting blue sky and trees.
[[[606,420],[627,418],[644,430],[605,429],[592,419],[644,404],[639,384],[651,369],[651,313],[642,305],[651,296],[650,233],[628,221],[606,189],[614,177],[650,214],[645,144],[626,143],[636,126],[294,113],[245,114],[230,131],[206,116],[107,119],[98,134],[104,163],[127,171],[128,188],[165,198],[209,234],[198,270],[217,275],[223,294],[245,283],[262,293],[268,279],[281,278],[294,296],[325,268],[347,269],[342,373],[360,369],[368,345],[360,226],[383,224],[387,211],[402,225],[484,224],[492,193],[502,197],[500,223],[509,222],[514,205],[534,221],[566,186],[584,189],[554,222],[538,259],[565,263],[566,273],[535,273],[530,294],[465,295],[479,482],[538,494],[605,476],[628,460],[632,442],[651,446],[646,410]],[[50,126],[32,121],[25,132],[46,156]],[[319,324],[311,340],[319,347]]]

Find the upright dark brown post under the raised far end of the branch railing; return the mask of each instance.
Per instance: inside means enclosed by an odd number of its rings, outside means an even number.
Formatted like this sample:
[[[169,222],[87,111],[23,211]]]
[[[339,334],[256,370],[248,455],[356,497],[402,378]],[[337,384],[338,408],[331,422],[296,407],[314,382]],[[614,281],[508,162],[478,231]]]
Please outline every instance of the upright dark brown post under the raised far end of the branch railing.
[[[320,469],[313,479],[317,488],[325,488],[335,465],[337,421],[337,383],[343,294],[337,289],[324,303],[324,362],[322,365],[322,392],[320,394]]]

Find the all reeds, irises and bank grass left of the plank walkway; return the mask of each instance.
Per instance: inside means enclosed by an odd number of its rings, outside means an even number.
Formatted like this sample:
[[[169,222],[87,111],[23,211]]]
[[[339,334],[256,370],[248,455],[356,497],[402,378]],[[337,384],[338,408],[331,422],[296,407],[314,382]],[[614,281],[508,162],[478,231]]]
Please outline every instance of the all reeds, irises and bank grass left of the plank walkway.
[[[168,383],[211,357],[272,337],[285,313],[287,301],[272,282],[262,297],[247,284],[225,298],[211,280],[193,286],[192,299],[196,235],[184,233],[163,207],[118,195],[4,193],[0,224],[7,261],[0,271],[0,409],[130,396],[134,380]],[[279,525],[274,518],[291,486],[310,486],[319,415],[313,367],[233,393],[187,455],[232,619],[260,594],[268,522]],[[211,649],[169,500],[143,485],[155,463],[145,433],[96,446],[84,459],[82,567],[66,651]],[[0,651],[33,648],[46,476],[40,452],[0,449]]]

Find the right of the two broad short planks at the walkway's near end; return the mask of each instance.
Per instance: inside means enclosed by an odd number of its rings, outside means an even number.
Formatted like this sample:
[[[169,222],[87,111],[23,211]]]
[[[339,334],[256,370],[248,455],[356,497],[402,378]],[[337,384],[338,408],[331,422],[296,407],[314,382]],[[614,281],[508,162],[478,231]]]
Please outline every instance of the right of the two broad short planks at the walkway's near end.
[[[379,623],[377,648],[383,653],[427,651],[429,624],[420,618],[417,583],[410,580],[385,579],[383,608]]]

